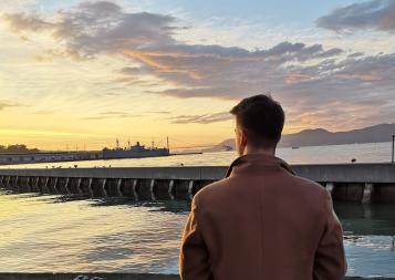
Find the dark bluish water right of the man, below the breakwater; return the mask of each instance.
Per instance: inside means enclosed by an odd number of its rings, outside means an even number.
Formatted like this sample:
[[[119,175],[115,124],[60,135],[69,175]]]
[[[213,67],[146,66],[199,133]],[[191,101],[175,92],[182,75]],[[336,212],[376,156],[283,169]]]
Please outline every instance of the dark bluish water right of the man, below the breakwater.
[[[351,276],[395,277],[395,205],[336,204]]]

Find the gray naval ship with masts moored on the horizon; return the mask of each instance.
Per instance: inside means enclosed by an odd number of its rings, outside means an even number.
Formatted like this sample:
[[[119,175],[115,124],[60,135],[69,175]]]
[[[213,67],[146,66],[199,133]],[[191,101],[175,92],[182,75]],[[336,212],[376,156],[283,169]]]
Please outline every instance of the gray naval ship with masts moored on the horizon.
[[[158,156],[169,156],[170,151],[167,148],[158,148],[154,146],[146,148],[144,145],[141,145],[139,142],[136,145],[122,148],[119,147],[119,142],[116,139],[115,148],[103,148],[103,159],[114,159],[114,158],[141,158],[141,157],[158,157]]]

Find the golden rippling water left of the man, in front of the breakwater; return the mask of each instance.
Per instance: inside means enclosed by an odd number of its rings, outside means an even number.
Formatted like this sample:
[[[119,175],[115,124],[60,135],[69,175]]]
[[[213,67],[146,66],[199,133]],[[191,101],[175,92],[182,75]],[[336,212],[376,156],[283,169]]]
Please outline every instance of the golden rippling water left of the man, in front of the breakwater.
[[[186,214],[53,199],[0,195],[0,271],[166,272],[177,266]]]

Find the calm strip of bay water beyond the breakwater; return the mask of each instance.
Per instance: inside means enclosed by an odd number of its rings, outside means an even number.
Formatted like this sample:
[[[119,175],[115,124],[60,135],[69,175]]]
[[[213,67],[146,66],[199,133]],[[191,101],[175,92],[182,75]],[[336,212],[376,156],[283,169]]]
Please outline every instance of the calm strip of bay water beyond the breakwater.
[[[370,143],[353,145],[333,145],[279,148],[277,156],[290,164],[326,164],[326,163],[388,163],[391,162],[392,143]],[[206,153],[200,155],[177,155],[150,158],[85,160],[72,163],[24,164],[0,166],[0,168],[63,168],[74,167],[129,167],[129,166],[218,166],[229,165],[237,157],[236,152]]]

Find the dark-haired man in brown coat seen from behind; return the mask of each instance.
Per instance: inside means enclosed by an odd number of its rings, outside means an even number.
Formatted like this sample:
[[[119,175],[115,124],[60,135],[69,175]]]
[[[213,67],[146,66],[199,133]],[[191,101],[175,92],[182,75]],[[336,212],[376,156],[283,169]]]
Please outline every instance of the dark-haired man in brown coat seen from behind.
[[[341,280],[342,227],[330,194],[276,157],[284,113],[267,95],[242,100],[240,157],[194,197],[179,266],[184,280]]]

